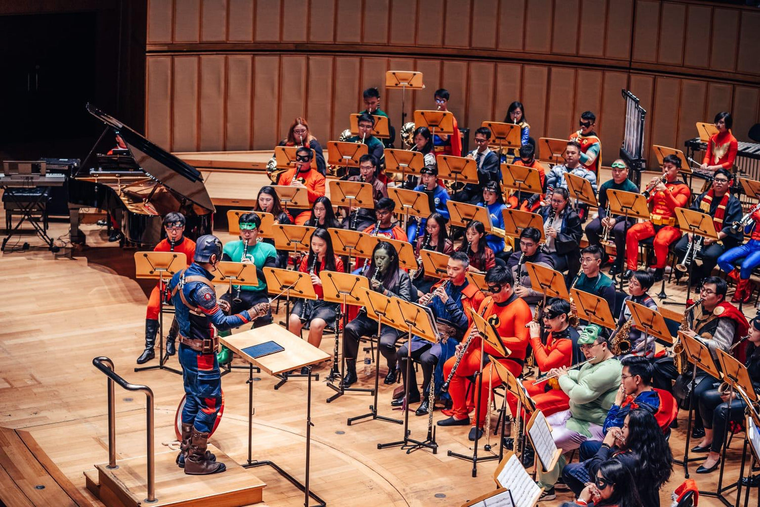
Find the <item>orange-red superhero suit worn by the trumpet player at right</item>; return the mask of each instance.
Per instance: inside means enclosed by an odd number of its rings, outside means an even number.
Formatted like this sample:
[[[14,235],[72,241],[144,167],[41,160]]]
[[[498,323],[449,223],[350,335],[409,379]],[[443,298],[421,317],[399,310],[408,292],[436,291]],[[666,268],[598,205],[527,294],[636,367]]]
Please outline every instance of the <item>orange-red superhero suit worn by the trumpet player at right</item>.
[[[681,237],[676,226],[676,208],[686,208],[692,192],[686,183],[665,183],[665,192],[654,192],[649,198],[651,220],[632,225],[625,236],[625,259],[628,269],[635,270],[638,257],[638,242],[654,236],[654,255],[657,257],[655,268],[665,268],[667,249],[670,243]]]

